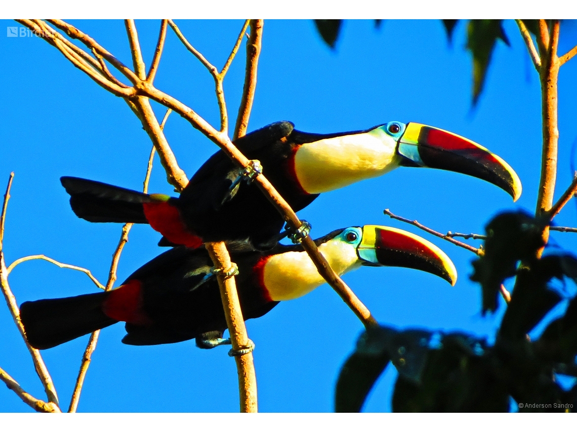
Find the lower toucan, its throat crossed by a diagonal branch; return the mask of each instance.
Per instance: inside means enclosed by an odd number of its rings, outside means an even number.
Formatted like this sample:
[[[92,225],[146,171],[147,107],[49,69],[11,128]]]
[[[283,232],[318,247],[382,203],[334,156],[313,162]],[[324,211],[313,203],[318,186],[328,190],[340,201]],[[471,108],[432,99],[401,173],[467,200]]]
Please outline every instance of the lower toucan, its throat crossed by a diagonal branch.
[[[451,285],[456,270],[441,249],[409,232],[378,225],[338,229],[315,240],[342,275],[361,266],[423,270]],[[257,251],[229,242],[238,267],[239,301],[246,319],[263,316],[279,301],[301,297],[324,283],[302,245]],[[196,338],[201,348],[227,343],[227,328],[212,262],[204,247],[176,247],[138,268],[118,288],[76,297],[27,301],[20,319],[31,346],[46,349],[118,321],[125,344],[153,345]]]

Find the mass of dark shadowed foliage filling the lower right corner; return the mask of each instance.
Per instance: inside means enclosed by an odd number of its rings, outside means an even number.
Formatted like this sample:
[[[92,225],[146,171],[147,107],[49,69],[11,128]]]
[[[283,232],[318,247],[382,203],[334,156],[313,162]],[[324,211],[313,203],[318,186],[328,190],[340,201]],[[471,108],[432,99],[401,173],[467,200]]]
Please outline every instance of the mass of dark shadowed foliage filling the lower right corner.
[[[458,332],[372,328],[359,339],[336,386],[335,410],[358,412],[387,364],[399,371],[395,412],[503,412],[509,397],[519,411],[564,412],[577,407],[577,385],[565,391],[555,374],[577,377],[577,297],[537,340],[527,334],[568,294],[553,278],[577,281],[577,259],[569,254],[537,257],[542,221],[525,213],[497,215],[486,227],[485,255],[474,262],[483,311],[497,306],[499,285],[516,276],[511,302],[488,346]]]

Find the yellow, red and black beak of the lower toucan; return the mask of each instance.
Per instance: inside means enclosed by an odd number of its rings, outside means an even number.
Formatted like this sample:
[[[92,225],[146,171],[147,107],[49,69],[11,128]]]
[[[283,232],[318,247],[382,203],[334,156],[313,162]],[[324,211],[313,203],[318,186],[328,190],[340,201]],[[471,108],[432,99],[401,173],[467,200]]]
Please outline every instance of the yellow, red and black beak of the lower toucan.
[[[424,238],[389,226],[365,225],[357,255],[364,266],[407,267],[440,276],[455,285],[457,271],[441,249]]]

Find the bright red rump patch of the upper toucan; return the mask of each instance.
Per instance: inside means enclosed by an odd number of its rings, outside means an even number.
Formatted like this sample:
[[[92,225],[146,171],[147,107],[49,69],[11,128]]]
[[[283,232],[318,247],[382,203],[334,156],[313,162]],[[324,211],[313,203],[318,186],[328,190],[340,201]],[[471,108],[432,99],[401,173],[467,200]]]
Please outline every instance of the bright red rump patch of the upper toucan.
[[[143,203],[144,216],[152,228],[174,244],[185,245],[196,249],[203,244],[203,239],[189,232],[182,222],[177,207],[168,201]]]

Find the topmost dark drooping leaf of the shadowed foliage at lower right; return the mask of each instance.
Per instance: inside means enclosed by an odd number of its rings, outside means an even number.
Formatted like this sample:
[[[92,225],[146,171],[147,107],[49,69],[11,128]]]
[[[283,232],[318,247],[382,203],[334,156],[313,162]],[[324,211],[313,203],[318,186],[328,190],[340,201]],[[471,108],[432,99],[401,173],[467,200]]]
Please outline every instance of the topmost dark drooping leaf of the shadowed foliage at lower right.
[[[544,224],[528,213],[501,213],[485,227],[485,255],[473,262],[471,281],[481,283],[482,310],[497,308],[499,287],[506,278],[516,274],[519,260],[531,262],[537,249],[544,245],[541,232]]]

